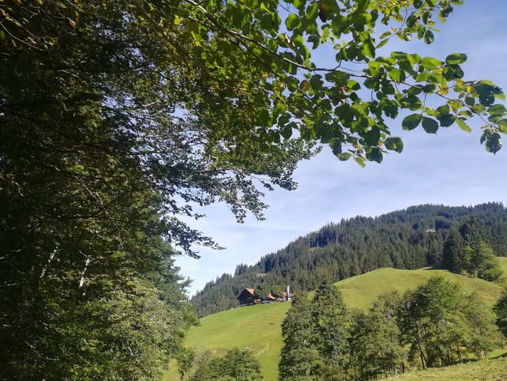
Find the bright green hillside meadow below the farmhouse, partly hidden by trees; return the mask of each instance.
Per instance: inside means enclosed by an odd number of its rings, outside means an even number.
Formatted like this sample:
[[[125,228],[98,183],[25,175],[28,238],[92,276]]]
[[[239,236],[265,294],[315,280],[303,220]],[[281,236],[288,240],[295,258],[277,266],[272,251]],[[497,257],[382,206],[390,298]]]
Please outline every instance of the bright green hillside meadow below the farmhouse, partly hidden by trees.
[[[507,258],[502,258],[507,271]],[[348,278],[337,285],[349,308],[366,308],[382,291],[415,288],[431,275],[441,273],[458,280],[467,291],[476,291],[488,304],[499,297],[501,287],[477,278],[468,278],[442,270],[378,269]],[[264,380],[276,380],[278,360],[282,347],[281,323],[289,303],[265,304],[235,308],[201,319],[201,324],[190,330],[187,345],[196,352],[220,352],[231,347],[252,350],[261,362]],[[164,381],[178,380],[176,369],[166,373]]]

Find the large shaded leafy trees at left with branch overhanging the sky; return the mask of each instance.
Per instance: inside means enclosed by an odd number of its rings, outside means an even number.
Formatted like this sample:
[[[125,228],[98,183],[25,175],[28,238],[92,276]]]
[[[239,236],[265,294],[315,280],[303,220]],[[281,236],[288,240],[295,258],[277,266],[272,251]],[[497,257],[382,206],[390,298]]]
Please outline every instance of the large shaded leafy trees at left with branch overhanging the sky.
[[[464,79],[465,54],[376,54],[393,37],[431,43],[460,3],[2,1],[1,377],[155,378],[194,323],[174,247],[218,247],[181,216],[221,201],[262,218],[263,191],[294,189],[316,143],[381,162],[403,149],[385,119],[410,110],[404,129],[428,133],[478,116],[497,152],[504,95]],[[311,60],[321,42],[330,68]],[[159,331],[137,336],[151,315],[123,318],[159,302]]]

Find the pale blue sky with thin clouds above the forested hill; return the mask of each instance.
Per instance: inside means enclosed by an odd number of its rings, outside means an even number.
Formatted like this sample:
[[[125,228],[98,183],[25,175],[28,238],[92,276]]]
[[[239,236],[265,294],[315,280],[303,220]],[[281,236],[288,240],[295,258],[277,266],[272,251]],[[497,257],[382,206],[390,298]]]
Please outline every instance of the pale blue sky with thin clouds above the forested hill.
[[[507,93],[507,0],[466,0],[456,7],[432,45],[392,40],[388,51],[445,58],[467,53],[467,79],[491,79]],[[382,52],[385,54],[385,52]],[[328,66],[334,53],[317,60]],[[300,235],[330,221],[357,214],[374,216],[416,204],[471,205],[485,201],[507,204],[507,147],[493,155],[480,145],[480,122],[471,122],[471,134],[457,125],[437,135],[421,127],[402,132],[401,120],[389,123],[393,135],[404,140],[404,151],[390,153],[382,164],[362,169],[340,162],[324,147],[313,160],[302,162],[291,192],[277,189],[265,197],[270,205],[266,221],[250,216],[237,224],[223,204],[205,209],[207,217],[193,228],[213,237],[224,250],[200,249],[201,258],[177,258],[181,273],[194,280],[190,294],[222,273],[232,273],[240,262],[254,264],[264,254],[281,249]],[[507,136],[503,136],[507,145]]]

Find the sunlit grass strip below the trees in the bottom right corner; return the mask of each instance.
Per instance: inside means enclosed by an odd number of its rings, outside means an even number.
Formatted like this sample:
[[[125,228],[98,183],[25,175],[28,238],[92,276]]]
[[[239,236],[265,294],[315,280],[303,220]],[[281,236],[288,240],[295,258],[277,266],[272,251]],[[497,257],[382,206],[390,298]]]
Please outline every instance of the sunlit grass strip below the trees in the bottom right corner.
[[[426,371],[414,371],[388,378],[389,381],[502,381],[507,380],[507,357],[494,360],[480,360],[452,367],[434,368]]]

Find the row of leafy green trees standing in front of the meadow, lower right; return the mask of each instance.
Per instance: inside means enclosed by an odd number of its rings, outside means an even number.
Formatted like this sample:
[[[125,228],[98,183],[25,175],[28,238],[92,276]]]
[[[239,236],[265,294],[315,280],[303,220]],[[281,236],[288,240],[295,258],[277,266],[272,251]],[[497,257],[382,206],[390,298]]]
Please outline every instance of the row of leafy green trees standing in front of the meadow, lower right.
[[[296,297],[282,332],[285,381],[372,380],[487,358],[504,343],[491,308],[442,275],[403,295],[383,293],[367,311],[348,311],[337,286],[322,284],[311,301]]]

